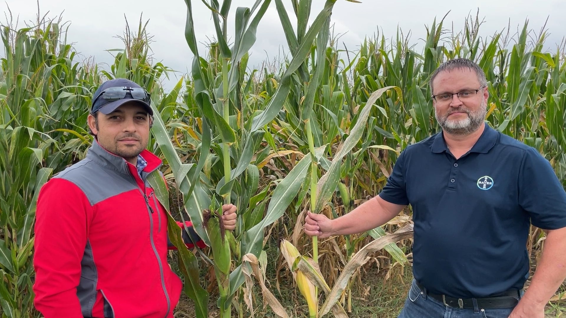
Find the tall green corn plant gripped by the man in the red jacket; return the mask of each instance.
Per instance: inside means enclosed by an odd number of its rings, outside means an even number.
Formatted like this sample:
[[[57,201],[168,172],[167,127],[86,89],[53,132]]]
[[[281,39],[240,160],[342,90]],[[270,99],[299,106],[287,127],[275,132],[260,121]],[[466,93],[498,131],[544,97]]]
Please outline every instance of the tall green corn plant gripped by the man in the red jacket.
[[[210,234],[205,233],[205,231],[199,227],[203,221],[203,209],[201,207],[213,203],[217,199],[217,196],[221,196],[225,203],[229,203],[234,183],[239,175],[245,171],[247,173],[245,178],[241,179],[243,183],[241,183],[241,187],[239,187],[240,191],[238,191],[238,188],[236,188],[236,191],[239,192],[238,201],[241,203],[240,207],[246,208],[250,205],[251,195],[258,187],[258,178],[256,177],[258,175],[258,167],[251,165],[250,161],[258,145],[259,137],[265,134],[265,131],[261,130],[261,127],[275,118],[277,112],[282,108],[282,104],[289,93],[290,85],[288,82],[291,74],[293,74],[305,60],[311,43],[320,29],[323,28],[325,23],[327,25],[330,14],[329,9],[334,2],[335,1],[329,1],[327,3],[327,6],[321,11],[319,18],[315,20],[315,23],[307,32],[305,44],[302,44],[301,48],[294,55],[291,65],[286,70],[286,74],[288,75],[285,75],[282,79],[282,83],[275,92],[275,96],[269,101],[269,104],[265,106],[265,110],[256,117],[250,118],[247,123],[243,123],[241,126],[239,121],[235,121],[234,123],[230,118],[231,114],[234,114],[236,118],[239,117],[238,114],[241,114],[241,105],[239,105],[238,98],[239,92],[235,90],[236,87],[239,87],[238,84],[240,81],[240,76],[238,76],[238,63],[241,61],[242,57],[246,55],[247,50],[253,45],[256,27],[261,16],[263,16],[265,10],[267,10],[270,1],[256,1],[251,10],[248,8],[238,8],[236,12],[237,24],[235,31],[237,36],[234,46],[231,49],[226,44],[226,38],[228,36],[226,34],[227,18],[230,9],[230,1],[222,3],[222,7],[214,0],[207,5],[213,12],[218,48],[220,49],[219,59],[221,59],[222,62],[220,69],[221,76],[218,81],[210,80],[208,82],[205,82],[206,77],[203,76],[204,72],[196,46],[194,27],[192,26],[192,4],[190,1],[186,1],[186,38],[192,53],[195,55],[192,65],[192,79],[194,80],[194,94],[198,106],[198,117],[202,125],[200,127],[202,144],[200,146],[199,164],[188,165],[179,163],[177,167],[172,167],[172,170],[178,185],[182,187],[182,183],[185,181],[188,185],[188,189],[181,191],[185,197],[187,213],[192,221],[195,222],[196,220],[196,229],[199,231],[201,237],[209,237]],[[253,12],[258,8],[258,12],[250,21]],[[220,23],[220,18],[222,19],[222,24]],[[209,79],[212,78],[215,78],[215,76],[209,76]],[[156,139],[160,147],[167,149],[167,151],[164,151],[165,156],[170,162],[179,161],[177,155],[174,154],[174,149],[171,149],[170,138],[162,129],[163,126],[161,122],[157,122],[158,131],[156,131]],[[239,139],[236,138],[237,133],[239,134]],[[214,136],[214,138],[211,136]],[[216,140],[217,138],[221,140],[221,144],[211,143],[210,140]],[[211,143],[210,146],[209,143]],[[208,149],[211,147],[215,150],[216,154],[216,156],[213,155],[211,157],[211,160],[213,160],[212,165],[214,166],[216,162],[220,162],[224,174],[221,178],[218,178],[217,175],[212,174],[214,167],[211,167],[211,169],[208,170],[211,171],[210,174],[205,174],[203,185],[201,185],[201,169],[203,169],[203,166],[208,161]],[[311,149],[311,151],[315,151],[315,149]],[[231,167],[230,152],[233,153],[232,157],[238,162],[234,169]],[[259,221],[257,224],[249,224],[251,226],[247,229],[237,231],[236,235],[239,235],[240,238],[239,244],[235,246],[241,249],[240,252],[237,252],[238,255],[252,253],[258,256],[260,254],[263,247],[261,243],[263,242],[264,227],[277,220],[277,218],[284,213],[290,201],[297,195],[302,181],[305,178],[306,171],[308,170],[307,162],[308,161],[303,158],[303,160],[290,171],[287,177],[278,184],[273,191],[266,216],[263,220]],[[182,171],[176,168],[182,169]],[[214,183],[216,183],[216,186],[213,186]],[[202,190],[200,194],[204,195],[199,197],[199,190]],[[193,193],[195,195],[193,195]],[[196,204],[192,204],[194,201],[197,201]],[[255,207],[251,206],[250,208]],[[248,223],[245,222],[245,225],[248,225]],[[209,239],[208,241],[210,242]],[[216,264],[215,268],[218,269]],[[242,275],[241,265],[239,265],[230,274],[230,290],[228,290],[225,288],[228,286],[226,285],[227,277],[223,271],[216,271],[216,273],[219,272],[222,272],[222,275],[218,275],[221,276],[221,278],[217,276],[220,287],[218,306],[220,307],[221,317],[224,317],[230,315],[231,298],[244,282],[244,277]],[[200,306],[199,309],[201,313],[205,312],[203,306]]]

